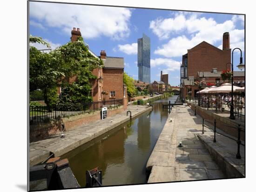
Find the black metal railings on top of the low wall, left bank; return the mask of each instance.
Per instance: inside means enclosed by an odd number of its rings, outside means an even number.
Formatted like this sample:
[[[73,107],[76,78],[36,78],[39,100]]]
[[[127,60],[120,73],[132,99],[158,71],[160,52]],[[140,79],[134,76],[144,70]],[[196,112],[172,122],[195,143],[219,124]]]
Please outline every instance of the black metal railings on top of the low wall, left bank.
[[[122,99],[102,102],[57,104],[52,107],[30,107],[29,118],[30,123],[47,122],[50,119],[60,119],[67,116],[81,115],[97,111],[103,107],[115,108],[121,105],[123,105]]]

